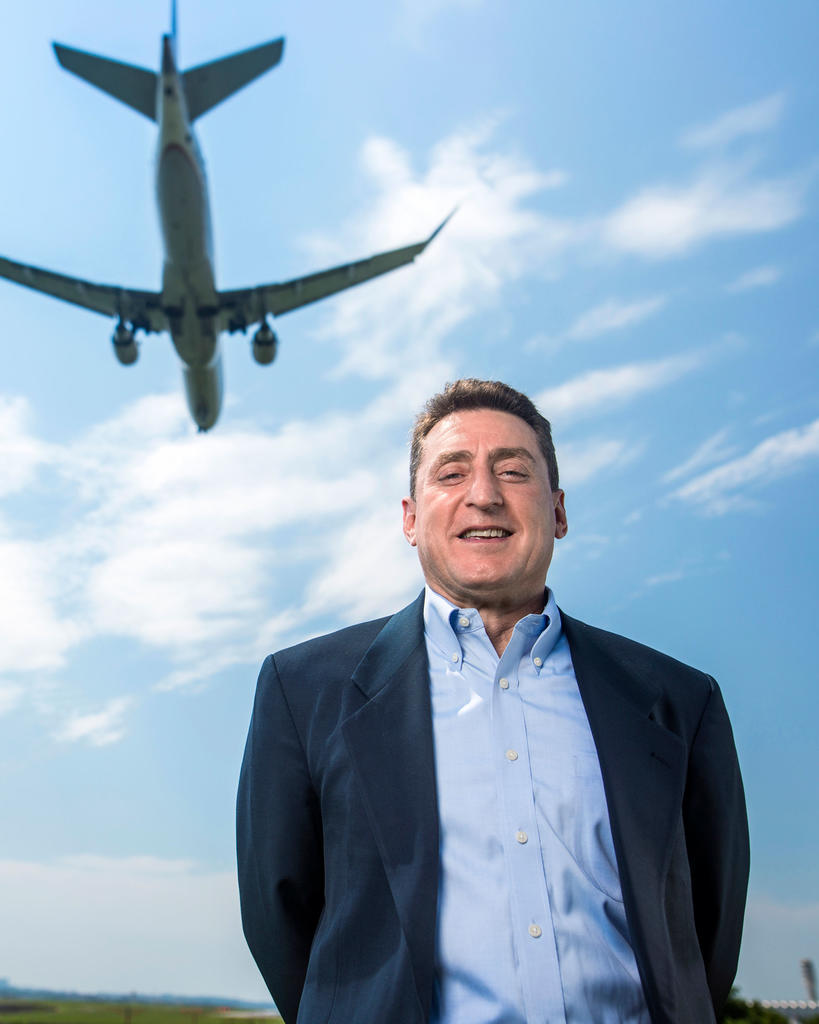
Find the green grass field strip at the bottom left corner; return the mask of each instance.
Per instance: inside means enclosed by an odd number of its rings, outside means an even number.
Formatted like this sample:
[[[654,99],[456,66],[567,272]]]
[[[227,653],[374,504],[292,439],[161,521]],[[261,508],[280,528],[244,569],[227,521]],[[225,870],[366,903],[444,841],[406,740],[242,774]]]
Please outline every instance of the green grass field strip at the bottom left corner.
[[[243,1011],[234,1018],[225,1009],[96,999],[0,999],[0,1024],[282,1024],[281,1017],[254,1017]]]

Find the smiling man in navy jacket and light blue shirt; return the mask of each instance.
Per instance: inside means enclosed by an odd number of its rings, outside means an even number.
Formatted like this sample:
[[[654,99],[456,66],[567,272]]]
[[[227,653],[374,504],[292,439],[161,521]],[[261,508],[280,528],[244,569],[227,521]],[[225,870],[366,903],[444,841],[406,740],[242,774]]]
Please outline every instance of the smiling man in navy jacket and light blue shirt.
[[[560,612],[549,423],[461,380],[412,443],[425,592],[269,657],[242,912],[288,1024],[708,1024],[748,869],[715,681]]]

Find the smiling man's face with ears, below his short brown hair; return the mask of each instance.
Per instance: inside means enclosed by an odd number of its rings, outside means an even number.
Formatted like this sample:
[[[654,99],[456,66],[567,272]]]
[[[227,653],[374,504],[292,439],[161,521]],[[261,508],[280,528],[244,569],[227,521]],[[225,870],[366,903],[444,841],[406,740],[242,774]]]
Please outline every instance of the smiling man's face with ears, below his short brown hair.
[[[543,594],[567,530],[531,427],[479,409],[452,413],[424,440],[403,532],[429,586],[460,607],[522,607]]]

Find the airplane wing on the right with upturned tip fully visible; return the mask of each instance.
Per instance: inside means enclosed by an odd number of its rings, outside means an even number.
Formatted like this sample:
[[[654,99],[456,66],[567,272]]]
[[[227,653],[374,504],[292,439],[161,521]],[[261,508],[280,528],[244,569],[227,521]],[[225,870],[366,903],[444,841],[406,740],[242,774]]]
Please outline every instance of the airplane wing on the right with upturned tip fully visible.
[[[319,270],[318,273],[310,273],[305,278],[295,278],[282,284],[258,285],[256,288],[219,292],[221,330],[243,331],[249,324],[262,321],[268,314],[281,316],[291,309],[306,306],[328,295],[344,291],[345,288],[352,288],[405,263],[412,263],[443,229],[452,213],[438,224],[428,239],[415,245],[391,249],[389,252],[370,256],[356,263],[343,263],[341,266]]]

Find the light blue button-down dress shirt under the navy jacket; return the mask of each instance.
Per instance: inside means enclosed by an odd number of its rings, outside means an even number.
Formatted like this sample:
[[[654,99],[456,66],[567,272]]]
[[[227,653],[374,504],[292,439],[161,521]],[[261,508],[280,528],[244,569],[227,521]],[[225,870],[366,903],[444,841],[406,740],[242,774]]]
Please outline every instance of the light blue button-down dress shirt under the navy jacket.
[[[474,608],[426,591],[441,865],[431,1024],[650,1024],[547,594],[499,658]]]

